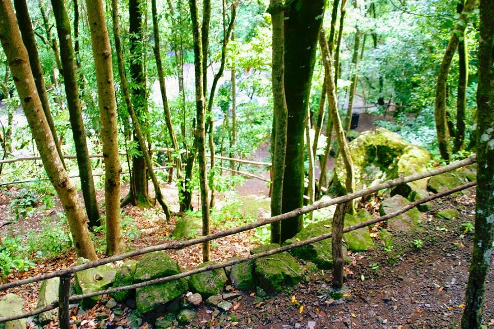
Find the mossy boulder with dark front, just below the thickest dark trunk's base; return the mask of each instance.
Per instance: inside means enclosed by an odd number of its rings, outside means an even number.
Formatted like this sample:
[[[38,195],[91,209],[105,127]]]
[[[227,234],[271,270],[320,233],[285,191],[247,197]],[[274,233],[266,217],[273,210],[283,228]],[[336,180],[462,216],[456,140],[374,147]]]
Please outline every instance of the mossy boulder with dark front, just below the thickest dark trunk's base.
[[[279,244],[261,245],[251,251],[251,254],[263,253],[279,248]],[[303,278],[303,269],[295,258],[287,252],[258,258],[254,260],[255,276],[266,292],[281,291],[286,286],[299,283]]]

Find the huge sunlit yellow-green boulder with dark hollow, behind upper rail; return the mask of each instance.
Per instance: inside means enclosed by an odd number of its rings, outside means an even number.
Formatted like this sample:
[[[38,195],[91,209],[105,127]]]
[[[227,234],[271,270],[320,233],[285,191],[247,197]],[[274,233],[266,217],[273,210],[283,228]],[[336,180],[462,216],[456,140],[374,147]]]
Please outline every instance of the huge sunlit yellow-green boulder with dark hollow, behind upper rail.
[[[362,132],[349,143],[353,165],[355,167],[355,185],[357,190],[398,178],[426,171],[430,153],[418,146],[403,141],[397,134],[377,128]],[[334,191],[346,194],[345,166],[343,157],[336,159],[334,170],[336,180],[332,182]],[[411,190],[425,189],[426,182],[419,181],[401,186],[395,194],[408,196]]]

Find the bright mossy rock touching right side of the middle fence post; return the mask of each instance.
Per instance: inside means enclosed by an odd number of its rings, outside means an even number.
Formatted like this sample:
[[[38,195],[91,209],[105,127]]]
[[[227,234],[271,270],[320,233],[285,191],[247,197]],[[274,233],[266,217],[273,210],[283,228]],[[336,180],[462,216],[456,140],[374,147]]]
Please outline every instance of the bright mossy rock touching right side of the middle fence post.
[[[372,215],[365,209],[358,211],[355,215],[345,214],[345,227],[359,224],[372,220]],[[354,252],[367,251],[374,248],[374,240],[372,240],[367,227],[362,227],[358,230],[343,234],[343,239],[348,250]]]

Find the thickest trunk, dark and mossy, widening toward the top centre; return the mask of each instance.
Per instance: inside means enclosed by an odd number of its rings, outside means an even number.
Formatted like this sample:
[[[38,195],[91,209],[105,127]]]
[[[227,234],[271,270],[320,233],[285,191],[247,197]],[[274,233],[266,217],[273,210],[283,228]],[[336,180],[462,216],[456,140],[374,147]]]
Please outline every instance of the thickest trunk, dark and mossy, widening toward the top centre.
[[[287,100],[287,153],[283,177],[282,212],[302,207],[304,194],[304,120],[308,111],[316,47],[324,0],[294,0],[284,15],[284,88]],[[303,216],[281,223],[281,241],[303,228]]]

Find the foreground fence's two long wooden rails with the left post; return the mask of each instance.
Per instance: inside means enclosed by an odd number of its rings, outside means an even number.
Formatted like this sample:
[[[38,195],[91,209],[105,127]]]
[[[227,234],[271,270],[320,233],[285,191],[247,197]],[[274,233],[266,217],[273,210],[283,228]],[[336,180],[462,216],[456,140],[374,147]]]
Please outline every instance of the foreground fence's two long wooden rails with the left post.
[[[384,183],[369,187],[367,189],[357,191],[355,193],[351,193],[351,194],[348,194],[348,195],[345,195],[342,197],[337,197],[337,198],[327,200],[327,201],[316,202],[314,204],[305,206],[303,208],[298,208],[298,209],[292,210],[292,211],[287,212],[287,213],[283,213],[283,214],[280,214],[277,216],[267,218],[265,220],[259,220],[259,221],[256,221],[254,223],[248,224],[248,225],[232,228],[229,230],[220,231],[220,232],[217,232],[214,234],[194,238],[194,239],[187,240],[187,241],[173,241],[173,242],[167,242],[167,243],[163,243],[163,244],[159,244],[159,245],[148,246],[148,247],[143,248],[143,249],[134,250],[131,252],[127,252],[124,254],[115,255],[115,256],[111,256],[111,257],[107,257],[107,258],[102,258],[99,260],[88,262],[86,264],[72,266],[72,267],[69,267],[66,269],[46,273],[44,275],[39,275],[36,277],[31,277],[31,278],[27,278],[27,279],[15,281],[15,282],[5,283],[3,285],[0,285],[0,291],[10,289],[13,287],[18,287],[18,286],[25,285],[25,284],[30,284],[30,283],[34,283],[34,282],[39,282],[39,281],[55,278],[55,277],[60,277],[60,279],[61,279],[60,280],[59,300],[58,301],[55,301],[54,303],[51,303],[51,304],[49,304],[43,308],[34,309],[30,312],[25,312],[25,313],[15,315],[15,316],[0,318],[0,323],[5,322],[5,321],[10,321],[10,320],[16,320],[16,319],[30,317],[33,315],[37,315],[37,314],[49,311],[49,310],[59,308],[58,313],[59,313],[60,327],[64,328],[64,329],[70,328],[69,303],[75,303],[75,302],[81,301],[82,299],[88,298],[88,297],[99,296],[99,295],[109,294],[109,293],[115,293],[118,291],[136,289],[136,288],[145,287],[145,286],[149,286],[149,285],[157,284],[157,283],[164,283],[164,282],[176,280],[179,278],[189,277],[189,276],[194,275],[196,273],[210,271],[210,270],[217,269],[217,268],[223,268],[223,267],[251,261],[251,260],[254,260],[257,258],[262,258],[262,257],[278,254],[278,253],[285,252],[285,251],[288,251],[288,250],[291,250],[294,248],[298,248],[298,247],[303,246],[303,245],[307,245],[307,244],[315,243],[315,242],[318,242],[318,241],[321,241],[324,239],[328,239],[331,237],[331,233],[327,233],[324,235],[313,237],[313,238],[310,238],[310,239],[307,239],[304,241],[296,242],[294,244],[281,246],[280,248],[273,249],[273,250],[259,253],[259,254],[250,255],[248,257],[244,257],[244,258],[240,258],[240,259],[236,259],[236,260],[230,260],[230,261],[226,261],[226,262],[223,262],[220,264],[213,264],[213,265],[209,265],[209,266],[195,268],[195,269],[192,269],[192,270],[189,270],[189,271],[186,271],[183,273],[179,273],[177,275],[169,276],[169,277],[154,279],[154,280],[150,280],[150,281],[146,281],[146,282],[142,282],[142,283],[138,283],[138,284],[132,284],[132,285],[128,285],[128,286],[123,286],[123,287],[116,287],[116,288],[111,288],[111,289],[106,289],[106,290],[100,290],[100,291],[96,291],[96,292],[92,292],[92,293],[70,296],[70,289],[69,289],[70,279],[75,272],[82,271],[82,270],[85,270],[88,268],[94,268],[94,267],[97,267],[100,265],[104,265],[104,264],[108,264],[108,263],[112,263],[112,262],[116,262],[116,261],[120,261],[120,260],[130,258],[130,257],[148,254],[148,253],[155,252],[155,251],[183,249],[183,248],[186,248],[188,246],[196,245],[196,244],[199,244],[202,242],[212,241],[212,240],[215,240],[218,238],[222,238],[225,236],[241,233],[241,232],[248,231],[248,230],[251,230],[251,229],[254,229],[257,227],[267,225],[267,224],[287,220],[288,218],[293,218],[295,216],[305,214],[305,213],[308,213],[308,212],[311,212],[311,211],[314,211],[317,209],[325,208],[325,207],[328,207],[331,205],[335,205],[335,204],[339,204],[339,203],[345,203],[345,202],[348,202],[348,201],[356,199],[356,198],[360,198],[360,197],[367,196],[369,194],[376,193],[377,191],[379,191],[381,189],[386,189],[386,188],[397,186],[400,184],[409,183],[409,182],[420,180],[423,178],[432,177],[432,176],[439,175],[442,173],[450,172],[452,170],[455,170],[455,169],[458,169],[461,167],[472,165],[473,163],[476,163],[475,157],[467,158],[465,160],[461,160],[461,161],[458,161],[456,163],[452,163],[448,166],[441,167],[441,168],[438,168],[435,170],[431,170],[429,172],[425,172],[425,173],[421,173],[421,174],[415,174],[415,175],[411,175],[411,176],[407,176],[407,177],[401,177],[401,178],[394,179],[394,180],[389,180],[389,181],[386,181]],[[375,218],[375,219],[367,221],[367,222],[361,222],[357,225],[347,227],[343,230],[343,233],[351,232],[351,231],[357,230],[357,229],[362,228],[362,227],[367,227],[367,226],[370,226],[370,225],[373,225],[373,224],[376,224],[379,222],[387,221],[390,218],[396,217],[396,216],[406,212],[407,210],[412,209],[413,207],[415,207],[419,204],[426,203],[426,202],[429,202],[431,200],[435,200],[438,198],[442,198],[442,197],[445,197],[447,195],[451,195],[453,193],[456,193],[458,191],[461,191],[463,189],[466,189],[466,188],[469,188],[469,187],[472,187],[475,185],[476,185],[475,181],[470,182],[470,183],[466,183],[464,185],[461,185],[461,186],[458,186],[456,188],[444,191],[442,193],[437,193],[435,195],[428,196],[428,197],[423,198],[421,200],[414,201],[414,202],[408,204],[407,206],[405,206],[405,207],[401,208],[400,210],[397,210],[393,213],[389,213],[385,216],[381,216],[379,218]]]

